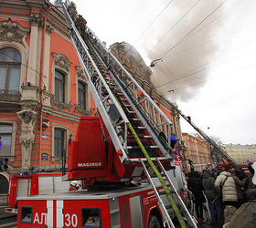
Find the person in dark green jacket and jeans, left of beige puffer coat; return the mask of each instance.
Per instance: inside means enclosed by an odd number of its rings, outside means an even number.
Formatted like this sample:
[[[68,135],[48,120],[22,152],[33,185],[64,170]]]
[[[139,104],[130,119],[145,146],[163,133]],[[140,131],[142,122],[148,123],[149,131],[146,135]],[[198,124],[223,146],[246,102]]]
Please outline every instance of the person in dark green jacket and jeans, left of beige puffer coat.
[[[214,186],[215,178],[210,174],[209,170],[205,170],[203,173],[203,188],[208,199],[208,205],[211,215],[211,223],[213,225],[219,222],[219,216],[221,212],[221,200],[220,194],[217,192]]]

